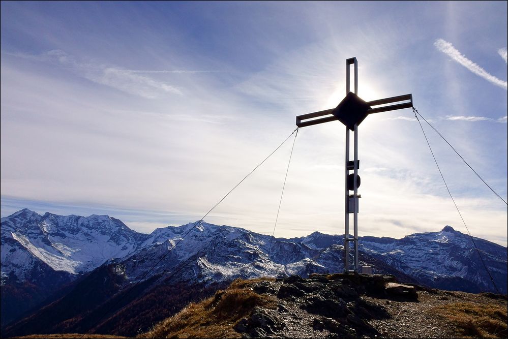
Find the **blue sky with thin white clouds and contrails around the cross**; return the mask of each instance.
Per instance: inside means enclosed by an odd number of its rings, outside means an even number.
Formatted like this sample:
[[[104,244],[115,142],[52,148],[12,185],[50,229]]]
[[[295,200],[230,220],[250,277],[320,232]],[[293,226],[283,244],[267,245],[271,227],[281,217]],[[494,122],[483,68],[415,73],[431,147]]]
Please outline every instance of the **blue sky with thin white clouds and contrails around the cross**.
[[[1,215],[200,220],[296,128],[358,96],[414,107],[507,199],[506,2],[2,2]],[[507,208],[427,124],[471,235]],[[205,221],[344,233],[345,127],[298,130]],[[352,135],[351,135],[352,137]],[[287,181],[279,207],[294,141]],[[466,233],[411,109],[358,129],[360,236]]]

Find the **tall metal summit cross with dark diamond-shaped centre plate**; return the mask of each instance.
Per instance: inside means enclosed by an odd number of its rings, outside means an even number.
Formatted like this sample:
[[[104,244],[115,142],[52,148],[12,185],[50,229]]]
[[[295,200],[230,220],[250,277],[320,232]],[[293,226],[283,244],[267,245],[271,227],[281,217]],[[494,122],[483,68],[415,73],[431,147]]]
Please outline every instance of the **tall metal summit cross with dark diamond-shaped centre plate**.
[[[349,68],[354,65],[354,93],[349,90]],[[411,94],[398,97],[391,97],[365,102],[358,96],[358,63],[355,57],[346,59],[346,97],[336,108],[324,111],[298,115],[296,117],[296,126],[306,127],[323,122],[339,120],[346,125],[346,162],[345,162],[345,211],[344,211],[344,272],[358,272],[358,195],[357,190],[360,186],[360,176],[358,176],[358,125],[372,113],[393,111],[402,108],[413,107],[413,98]],[[393,105],[386,105],[393,104]],[[377,106],[377,107],[373,107]],[[319,118],[319,119],[316,119]],[[354,160],[349,160],[349,131],[354,132]],[[351,174],[350,171],[353,171]],[[353,194],[349,194],[353,191]],[[349,237],[349,214],[353,214],[353,237]],[[353,241],[353,269],[350,269],[349,263],[349,242]]]

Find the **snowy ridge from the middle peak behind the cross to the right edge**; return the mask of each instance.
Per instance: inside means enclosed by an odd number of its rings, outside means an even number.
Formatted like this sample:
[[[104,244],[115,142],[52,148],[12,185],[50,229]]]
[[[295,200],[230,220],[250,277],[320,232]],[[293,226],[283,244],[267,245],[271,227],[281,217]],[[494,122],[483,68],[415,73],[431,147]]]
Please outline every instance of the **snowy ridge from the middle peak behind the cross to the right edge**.
[[[314,232],[276,239],[241,228],[194,225],[157,229],[150,246],[111,263],[122,267],[128,281],[166,276],[175,270],[178,279],[213,282],[260,275],[307,276],[341,272],[344,267],[343,236]],[[480,238],[474,241],[497,288],[506,293],[506,248]],[[374,272],[404,275],[404,279],[442,289],[495,292],[471,238],[450,226],[402,239],[365,236],[359,246],[361,264],[372,265]]]

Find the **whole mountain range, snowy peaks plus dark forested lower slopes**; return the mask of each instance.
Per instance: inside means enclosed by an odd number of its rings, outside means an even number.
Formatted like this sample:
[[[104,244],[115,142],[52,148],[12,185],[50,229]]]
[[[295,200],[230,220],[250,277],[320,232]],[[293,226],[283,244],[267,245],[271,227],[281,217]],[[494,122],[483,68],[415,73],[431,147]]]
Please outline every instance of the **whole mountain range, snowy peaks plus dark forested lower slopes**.
[[[0,229],[2,336],[133,335],[236,278],[343,271],[344,236],[319,232],[274,238],[201,221],[143,234],[108,215],[28,209],[2,218]],[[373,273],[431,288],[506,294],[506,248],[474,242],[482,258],[469,235],[451,226],[358,241],[361,265]]]

